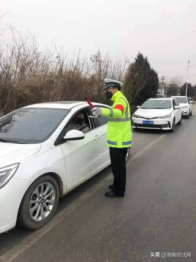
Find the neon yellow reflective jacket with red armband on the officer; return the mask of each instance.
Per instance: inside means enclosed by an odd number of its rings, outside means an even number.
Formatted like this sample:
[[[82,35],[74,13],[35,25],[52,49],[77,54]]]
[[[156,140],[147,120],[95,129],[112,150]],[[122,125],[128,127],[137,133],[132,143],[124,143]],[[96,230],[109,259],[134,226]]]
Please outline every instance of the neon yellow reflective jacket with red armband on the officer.
[[[109,116],[107,146],[118,148],[130,147],[132,141],[129,103],[120,91],[116,92],[111,100],[114,101],[111,109],[102,108],[103,115],[106,117]]]

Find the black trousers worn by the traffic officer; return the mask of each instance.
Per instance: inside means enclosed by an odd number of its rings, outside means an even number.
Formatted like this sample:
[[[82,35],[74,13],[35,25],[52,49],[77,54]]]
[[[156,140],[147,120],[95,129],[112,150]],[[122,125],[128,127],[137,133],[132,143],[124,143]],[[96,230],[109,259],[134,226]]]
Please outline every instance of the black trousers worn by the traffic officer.
[[[114,176],[112,191],[117,195],[124,195],[126,188],[126,154],[126,147],[110,147],[111,169]]]

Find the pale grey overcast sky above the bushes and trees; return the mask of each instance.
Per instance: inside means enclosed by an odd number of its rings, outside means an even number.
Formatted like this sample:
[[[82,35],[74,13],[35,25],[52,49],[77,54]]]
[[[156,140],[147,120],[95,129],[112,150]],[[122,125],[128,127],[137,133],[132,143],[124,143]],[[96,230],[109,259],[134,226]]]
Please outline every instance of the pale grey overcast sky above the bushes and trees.
[[[65,50],[81,48],[88,57],[104,55],[133,61],[138,50],[149,58],[159,77],[183,76],[187,59],[196,64],[195,0],[0,0],[1,26],[39,34]],[[196,83],[196,66],[189,68]],[[191,76],[195,75],[195,76]]]

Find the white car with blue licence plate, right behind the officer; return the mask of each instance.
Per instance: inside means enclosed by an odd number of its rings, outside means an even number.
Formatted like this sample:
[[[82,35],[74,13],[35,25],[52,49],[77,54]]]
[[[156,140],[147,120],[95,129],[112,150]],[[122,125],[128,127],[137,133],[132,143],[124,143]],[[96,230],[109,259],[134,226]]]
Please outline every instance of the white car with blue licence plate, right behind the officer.
[[[182,109],[175,98],[150,98],[137,107],[132,116],[132,127],[163,129],[174,132],[182,124]]]

